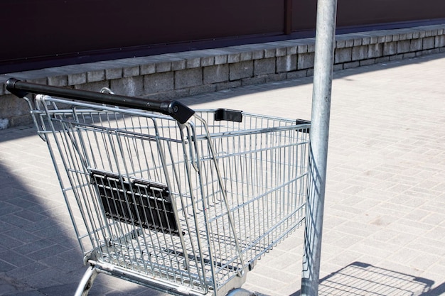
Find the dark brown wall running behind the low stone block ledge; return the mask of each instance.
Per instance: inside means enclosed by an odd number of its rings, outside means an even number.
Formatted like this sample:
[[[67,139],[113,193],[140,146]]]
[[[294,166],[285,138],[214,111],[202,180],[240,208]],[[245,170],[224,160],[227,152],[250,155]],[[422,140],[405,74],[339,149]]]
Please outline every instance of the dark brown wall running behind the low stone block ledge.
[[[444,0],[338,0],[340,28],[436,18],[445,18]],[[193,48],[190,44],[203,40],[216,47],[225,41],[245,43],[246,38],[283,38],[315,26],[316,0],[4,1],[0,72],[18,64],[38,67],[31,65],[36,60],[90,61],[104,53],[131,56],[154,47]]]

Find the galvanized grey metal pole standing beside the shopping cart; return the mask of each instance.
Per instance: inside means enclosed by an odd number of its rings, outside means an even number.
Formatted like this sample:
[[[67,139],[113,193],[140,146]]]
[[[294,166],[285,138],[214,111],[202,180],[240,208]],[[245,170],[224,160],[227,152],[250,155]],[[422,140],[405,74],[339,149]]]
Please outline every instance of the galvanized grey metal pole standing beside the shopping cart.
[[[318,295],[336,14],[337,0],[318,0],[313,68],[311,155],[301,275],[302,296]]]

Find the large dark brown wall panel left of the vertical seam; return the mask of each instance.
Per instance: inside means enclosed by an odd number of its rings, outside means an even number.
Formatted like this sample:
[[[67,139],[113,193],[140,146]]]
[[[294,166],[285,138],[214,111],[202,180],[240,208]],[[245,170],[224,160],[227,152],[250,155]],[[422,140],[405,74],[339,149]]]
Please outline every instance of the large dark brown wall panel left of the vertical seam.
[[[14,0],[2,60],[188,40],[282,33],[277,0]]]

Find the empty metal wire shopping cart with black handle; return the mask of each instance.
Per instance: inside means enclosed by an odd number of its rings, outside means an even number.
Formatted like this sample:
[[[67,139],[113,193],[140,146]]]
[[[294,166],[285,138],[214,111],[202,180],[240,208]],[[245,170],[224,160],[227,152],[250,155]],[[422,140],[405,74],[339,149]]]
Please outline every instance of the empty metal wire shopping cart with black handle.
[[[232,295],[304,221],[309,121],[15,79],[6,88],[38,94],[26,100],[90,265],[75,295],[97,273]]]

